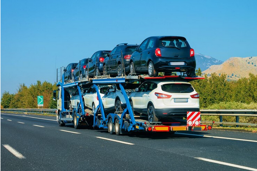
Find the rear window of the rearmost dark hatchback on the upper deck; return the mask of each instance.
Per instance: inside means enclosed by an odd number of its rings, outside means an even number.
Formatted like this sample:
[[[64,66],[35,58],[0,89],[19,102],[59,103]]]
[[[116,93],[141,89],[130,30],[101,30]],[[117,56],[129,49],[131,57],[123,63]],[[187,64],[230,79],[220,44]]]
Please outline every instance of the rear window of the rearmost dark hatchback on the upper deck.
[[[184,48],[187,47],[186,43],[183,39],[179,39],[176,37],[164,37],[159,40],[160,47],[176,47],[176,48]]]

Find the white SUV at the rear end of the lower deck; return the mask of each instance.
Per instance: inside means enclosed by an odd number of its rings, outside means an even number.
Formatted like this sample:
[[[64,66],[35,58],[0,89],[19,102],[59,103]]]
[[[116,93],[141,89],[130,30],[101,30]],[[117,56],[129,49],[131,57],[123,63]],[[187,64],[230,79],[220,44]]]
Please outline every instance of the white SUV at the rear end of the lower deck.
[[[146,81],[129,99],[134,113],[147,114],[150,122],[164,117],[186,117],[187,112],[200,110],[199,94],[183,81]]]

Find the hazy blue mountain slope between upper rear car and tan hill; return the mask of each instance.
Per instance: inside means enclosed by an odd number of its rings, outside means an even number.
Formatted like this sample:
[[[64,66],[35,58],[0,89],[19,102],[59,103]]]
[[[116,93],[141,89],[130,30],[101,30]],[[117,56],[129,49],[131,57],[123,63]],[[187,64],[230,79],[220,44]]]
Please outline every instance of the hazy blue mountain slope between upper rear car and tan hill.
[[[214,57],[195,53],[197,66],[196,69],[200,68],[201,71],[208,69],[211,65],[222,64],[223,61],[215,59]]]

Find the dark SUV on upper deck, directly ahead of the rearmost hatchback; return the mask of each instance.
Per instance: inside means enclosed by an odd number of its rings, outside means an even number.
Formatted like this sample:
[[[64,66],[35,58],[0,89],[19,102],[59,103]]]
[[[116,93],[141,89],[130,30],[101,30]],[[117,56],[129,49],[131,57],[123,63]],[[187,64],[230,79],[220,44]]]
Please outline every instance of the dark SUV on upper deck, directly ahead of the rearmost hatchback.
[[[127,43],[118,44],[104,59],[103,75],[124,75],[130,73],[129,62],[130,57],[139,45],[128,45]],[[122,65],[124,63],[124,65]]]

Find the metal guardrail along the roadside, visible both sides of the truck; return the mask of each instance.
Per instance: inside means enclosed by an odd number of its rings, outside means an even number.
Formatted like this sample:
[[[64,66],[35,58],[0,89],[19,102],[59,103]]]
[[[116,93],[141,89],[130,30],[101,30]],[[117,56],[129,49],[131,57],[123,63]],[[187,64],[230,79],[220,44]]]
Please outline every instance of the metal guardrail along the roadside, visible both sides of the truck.
[[[1,112],[15,112],[25,114],[56,114],[57,109],[1,109]],[[219,124],[224,125],[236,125],[241,126],[254,126],[257,127],[257,123],[239,123],[239,116],[253,116],[257,117],[257,110],[200,110],[201,115],[214,115],[219,116],[219,122],[201,121],[201,123],[207,124]],[[235,116],[236,122],[223,122],[223,116]]]

